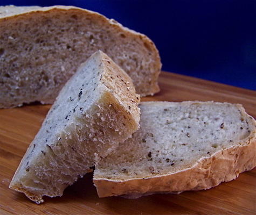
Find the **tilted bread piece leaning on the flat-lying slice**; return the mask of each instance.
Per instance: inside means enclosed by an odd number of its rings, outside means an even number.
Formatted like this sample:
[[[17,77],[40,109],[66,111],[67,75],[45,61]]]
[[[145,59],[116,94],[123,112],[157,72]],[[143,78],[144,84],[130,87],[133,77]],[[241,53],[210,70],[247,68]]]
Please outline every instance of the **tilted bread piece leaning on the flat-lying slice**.
[[[10,188],[36,203],[63,195],[137,130],[139,101],[129,76],[106,54],[93,54],[60,91]]]

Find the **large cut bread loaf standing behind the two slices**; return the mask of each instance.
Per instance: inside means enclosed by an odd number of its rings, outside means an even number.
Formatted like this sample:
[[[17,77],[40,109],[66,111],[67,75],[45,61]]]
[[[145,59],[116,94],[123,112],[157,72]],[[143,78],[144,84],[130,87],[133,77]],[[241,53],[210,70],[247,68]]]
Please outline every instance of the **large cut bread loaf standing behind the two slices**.
[[[74,6],[0,6],[0,108],[52,104],[95,51],[128,73],[137,93],[159,91],[159,53],[146,35]]]

